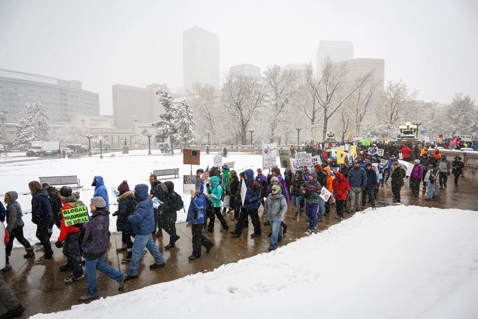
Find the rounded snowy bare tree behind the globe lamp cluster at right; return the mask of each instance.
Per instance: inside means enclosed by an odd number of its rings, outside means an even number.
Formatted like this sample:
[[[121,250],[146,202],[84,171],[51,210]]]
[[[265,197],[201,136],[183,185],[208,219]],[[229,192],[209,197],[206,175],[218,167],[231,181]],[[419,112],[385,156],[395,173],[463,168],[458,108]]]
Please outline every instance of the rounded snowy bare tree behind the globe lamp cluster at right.
[[[410,91],[402,80],[388,81],[377,112],[378,117],[385,123],[395,124],[400,119],[407,120],[408,116],[415,116],[418,107],[414,101],[417,95],[418,91]]]

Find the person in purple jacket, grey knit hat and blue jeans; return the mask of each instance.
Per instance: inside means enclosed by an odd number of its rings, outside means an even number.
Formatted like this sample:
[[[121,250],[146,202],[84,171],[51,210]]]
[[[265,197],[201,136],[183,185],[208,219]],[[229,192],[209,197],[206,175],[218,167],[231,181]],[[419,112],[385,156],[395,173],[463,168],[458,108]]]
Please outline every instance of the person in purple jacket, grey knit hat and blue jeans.
[[[126,275],[105,263],[105,253],[110,243],[108,238],[110,212],[105,206],[106,201],[102,197],[97,196],[91,199],[90,210],[92,215],[85,226],[85,236],[82,243],[83,257],[86,259],[87,291],[84,296],[78,298],[81,302],[98,298],[97,269],[111,279],[116,280],[119,283],[119,290],[123,290],[124,287]]]

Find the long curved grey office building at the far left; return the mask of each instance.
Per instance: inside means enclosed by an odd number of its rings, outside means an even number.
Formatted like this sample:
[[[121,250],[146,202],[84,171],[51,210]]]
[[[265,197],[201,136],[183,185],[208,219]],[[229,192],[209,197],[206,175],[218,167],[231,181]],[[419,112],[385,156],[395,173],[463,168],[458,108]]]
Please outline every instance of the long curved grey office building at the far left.
[[[100,115],[100,96],[82,90],[81,81],[0,69],[0,109],[6,123],[18,123],[25,102],[40,101],[49,123],[70,122],[73,115]]]

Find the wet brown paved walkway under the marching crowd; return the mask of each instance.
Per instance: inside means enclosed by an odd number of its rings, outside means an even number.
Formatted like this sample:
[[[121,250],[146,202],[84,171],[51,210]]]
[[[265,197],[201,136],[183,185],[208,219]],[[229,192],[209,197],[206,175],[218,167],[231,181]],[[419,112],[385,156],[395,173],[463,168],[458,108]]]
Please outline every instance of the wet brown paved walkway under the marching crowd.
[[[418,198],[410,196],[410,191],[402,188],[402,203],[419,206],[439,207],[439,208],[460,208],[478,210],[478,186],[473,185],[465,178],[460,178],[459,186],[455,187],[453,181],[449,183],[447,189],[438,190],[440,197],[434,201],[425,201],[424,193],[420,192]],[[387,205],[391,202],[392,193],[390,184],[380,186],[377,206]],[[264,221],[262,207],[259,208],[261,222]],[[279,243],[278,247],[286,245],[296,239],[306,236],[305,231],[308,223],[305,222],[305,213],[297,220],[293,220],[293,210],[289,207],[286,214],[285,222],[288,225],[287,234],[284,240]],[[324,220],[318,223],[318,230],[322,231],[336,224],[338,221],[334,219],[336,215],[335,205],[331,206],[329,216],[324,216]],[[346,214],[345,218],[350,218],[352,214]],[[226,220],[230,229],[234,228],[235,222],[231,221],[232,216],[227,216]],[[176,248],[172,250],[164,250],[164,245],[168,243],[169,236],[164,233],[163,237],[154,238],[159,246],[161,253],[166,260],[166,267],[157,270],[149,270],[149,265],[154,263],[154,259],[149,253],[146,253],[140,261],[139,278],[126,282],[124,292],[136,290],[145,286],[171,281],[177,278],[195,274],[199,272],[212,271],[223,264],[234,263],[240,259],[251,257],[263,252],[267,252],[269,246],[270,231],[269,226],[262,226],[262,236],[251,239],[252,224],[249,222],[250,228],[244,229],[239,238],[232,238],[228,233],[221,233],[220,223],[216,221],[215,231],[208,237],[215,242],[215,246],[210,254],[203,255],[200,259],[189,261],[188,256],[191,255],[191,229],[186,223],[176,224],[178,235],[181,239],[176,243]],[[121,272],[126,272],[129,264],[121,264],[119,260],[126,253],[116,253],[116,249],[121,246],[121,236],[112,234],[110,240],[110,248],[106,254],[106,262]],[[10,258],[12,271],[3,274],[5,282],[11,287],[17,298],[21,301],[26,311],[20,318],[28,318],[37,313],[51,313],[61,310],[68,310],[72,305],[79,304],[78,297],[86,292],[86,278],[78,283],[65,284],[63,278],[67,273],[60,273],[58,267],[65,263],[65,256],[61,249],[53,246],[54,257],[51,262],[44,265],[35,265],[33,259],[23,259],[23,249],[14,249]],[[42,250],[37,252],[36,258],[42,255]],[[100,297],[114,296],[119,294],[118,284],[110,278],[98,273],[98,289]],[[0,313],[5,312],[0,306]]]

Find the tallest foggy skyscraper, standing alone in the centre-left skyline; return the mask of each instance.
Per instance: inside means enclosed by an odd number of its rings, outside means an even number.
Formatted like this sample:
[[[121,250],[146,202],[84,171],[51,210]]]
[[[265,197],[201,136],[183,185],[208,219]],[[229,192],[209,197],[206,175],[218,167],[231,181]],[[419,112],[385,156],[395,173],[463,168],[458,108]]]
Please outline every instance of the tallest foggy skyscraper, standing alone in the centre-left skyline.
[[[184,88],[194,82],[219,88],[219,35],[193,26],[183,32]]]

